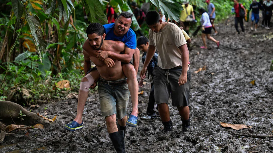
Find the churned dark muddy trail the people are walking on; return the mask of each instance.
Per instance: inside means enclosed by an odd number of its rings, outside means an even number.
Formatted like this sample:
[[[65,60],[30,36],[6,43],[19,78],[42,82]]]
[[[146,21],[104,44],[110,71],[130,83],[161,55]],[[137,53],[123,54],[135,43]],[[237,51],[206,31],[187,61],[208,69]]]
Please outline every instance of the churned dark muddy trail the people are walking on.
[[[146,113],[149,99],[150,83],[146,79],[147,83],[140,88],[144,93],[139,95],[138,126],[127,126],[128,153],[273,152],[272,138],[255,138],[273,134],[273,72],[269,71],[273,60],[273,31],[260,27],[255,33],[248,30],[237,35],[233,23],[230,18],[217,26],[219,35],[214,38],[220,40],[219,49],[212,41],[208,41],[210,49],[200,49],[201,37],[192,38],[189,51],[191,129],[182,131],[182,122],[173,106],[170,106],[170,115],[174,130],[170,133],[162,133],[160,117],[140,119]],[[245,23],[246,29],[250,29],[248,24]],[[194,73],[204,66],[206,70]],[[250,83],[253,80],[254,85]],[[64,125],[74,119],[77,99],[40,105],[33,111],[48,118],[58,115],[55,122],[44,129],[13,131],[0,144],[0,152],[115,152],[98,99],[96,91],[89,94],[84,128],[74,132],[64,129]],[[129,101],[127,114],[131,106]],[[252,128],[233,130],[222,127],[219,122]]]

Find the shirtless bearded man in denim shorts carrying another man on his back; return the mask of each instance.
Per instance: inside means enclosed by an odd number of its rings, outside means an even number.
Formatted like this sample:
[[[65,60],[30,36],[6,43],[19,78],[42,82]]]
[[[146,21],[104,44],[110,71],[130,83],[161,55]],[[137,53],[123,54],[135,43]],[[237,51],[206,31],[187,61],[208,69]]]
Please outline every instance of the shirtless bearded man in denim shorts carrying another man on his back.
[[[120,41],[104,40],[105,33],[100,23],[91,23],[86,30],[90,50],[83,50],[84,71],[90,66],[90,60],[96,65],[100,79],[98,83],[99,101],[102,116],[105,117],[106,127],[117,152],[125,152],[124,131],[118,131],[116,118],[120,126],[125,126],[127,121],[126,109],[129,101],[127,78],[125,77],[121,62],[106,58],[101,61],[97,58],[97,50],[108,50],[119,54],[124,51],[124,43]],[[108,67],[106,63],[114,63]],[[90,87],[91,72],[85,75],[81,82],[80,90],[88,92]],[[75,122],[75,121],[73,121]]]

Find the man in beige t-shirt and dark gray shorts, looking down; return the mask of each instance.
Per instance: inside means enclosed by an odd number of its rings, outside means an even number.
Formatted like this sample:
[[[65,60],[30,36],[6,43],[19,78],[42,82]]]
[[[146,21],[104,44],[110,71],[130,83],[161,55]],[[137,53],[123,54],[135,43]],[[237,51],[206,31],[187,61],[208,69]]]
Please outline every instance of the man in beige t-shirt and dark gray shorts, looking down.
[[[189,71],[189,51],[187,42],[178,26],[170,22],[162,22],[156,11],[146,14],[149,26],[149,48],[141,70],[141,78],[145,78],[147,66],[158,50],[158,64],[154,74],[155,102],[164,125],[164,131],[171,131],[172,121],[168,99],[176,106],[182,120],[182,129],[190,127],[189,123],[189,92],[191,72]]]

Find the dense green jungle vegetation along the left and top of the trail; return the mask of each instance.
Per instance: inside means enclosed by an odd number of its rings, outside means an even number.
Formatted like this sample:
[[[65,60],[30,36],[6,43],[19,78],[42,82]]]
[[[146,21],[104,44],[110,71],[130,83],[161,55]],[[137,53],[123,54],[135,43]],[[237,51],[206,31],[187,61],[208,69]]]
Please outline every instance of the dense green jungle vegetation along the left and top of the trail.
[[[112,0],[110,5],[117,13],[132,12],[130,2]],[[152,2],[150,10],[159,7],[166,17],[176,20],[182,3],[178,0],[177,3],[166,0],[136,2],[139,7],[144,2]],[[216,20],[227,19],[233,1],[211,2],[216,7]],[[89,22],[107,23],[104,14],[107,3],[104,0],[1,1],[0,100],[20,100],[29,105],[78,92],[84,75],[82,44],[86,40],[85,28]],[[242,0],[241,3],[248,7],[250,1]],[[203,0],[193,0],[191,4],[199,20],[197,8],[206,8],[206,4]],[[197,25],[192,25],[192,29]],[[131,27],[134,30],[139,28],[135,18]],[[147,25],[143,24],[141,29],[148,36]],[[69,88],[58,88],[56,83],[63,80],[69,81]]]

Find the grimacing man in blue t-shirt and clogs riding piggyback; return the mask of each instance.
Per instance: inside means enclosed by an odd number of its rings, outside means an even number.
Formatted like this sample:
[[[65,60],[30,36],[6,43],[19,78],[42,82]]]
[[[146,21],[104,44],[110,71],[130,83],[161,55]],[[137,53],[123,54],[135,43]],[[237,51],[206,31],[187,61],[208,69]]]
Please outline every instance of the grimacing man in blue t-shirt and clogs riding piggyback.
[[[131,94],[132,106],[133,106],[131,115],[129,115],[129,118],[126,124],[129,126],[136,127],[137,113],[138,113],[138,107],[137,107],[138,106],[138,81],[136,79],[136,73],[137,73],[138,65],[139,65],[139,49],[136,48],[136,35],[133,32],[133,30],[130,28],[130,25],[132,23],[132,16],[133,14],[131,13],[122,12],[116,18],[115,23],[103,25],[105,33],[106,33],[105,40],[118,40],[125,43],[124,54],[115,53],[109,50],[103,51],[99,49],[95,52],[96,54],[95,57],[98,57],[99,60],[105,62],[108,65],[108,67],[112,67],[115,64],[109,58],[124,62],[122,64],[122,69],[126,77],[128,77],[128,86],[129,86],[129,91]],[[92,47],[90,43],[88,42],[88,40],[85,41],[83,45],[83,49],[92,50]],[[132,56],[133,56],[134,65],[129,63],[130,60],[132,59]],[[90,71],[88,71],[89,68],[91,68],[91,65],[88,65],[88,66],[85,65],[84,72],[85,74],[87,74],[87,72],[88,73],[91,72],[90,78],[88,79],[88,81],[90,81],[90,84],[93,84],[93,87],[94,87],[96,86],[97,79],[99,79],[100,75],[99,75],[99,72],[96,71],[96,68],[94,69],[92,68]],[[80,89],[79,98],[78,98],[77,116],[74,119],[74,121],[76,121],[77,124],[74,126],[71,126],[71,125],[69,126],[69,124],[66,124],[66,126],[73,128],[73,130],[82,128],[82,126],[79,126],[79,125],[81,125],[82,123],[82,113],[84,111],[84,104],[87,100],[87,97],[88,97],[88,91],[82,91]],[[124,127],[119,126],[119,127],[122,130],[126,128],[126,126]]]

